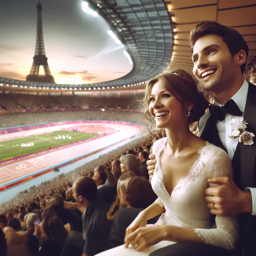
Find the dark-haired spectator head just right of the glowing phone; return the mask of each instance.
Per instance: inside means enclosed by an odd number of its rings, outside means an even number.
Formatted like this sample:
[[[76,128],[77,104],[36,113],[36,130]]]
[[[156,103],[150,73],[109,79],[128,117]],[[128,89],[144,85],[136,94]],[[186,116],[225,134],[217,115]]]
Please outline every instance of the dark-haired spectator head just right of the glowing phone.
[[[67,238],[62,221],[57,216],[46,216],[42,221],[42,235],[53,239],[61,248]]]

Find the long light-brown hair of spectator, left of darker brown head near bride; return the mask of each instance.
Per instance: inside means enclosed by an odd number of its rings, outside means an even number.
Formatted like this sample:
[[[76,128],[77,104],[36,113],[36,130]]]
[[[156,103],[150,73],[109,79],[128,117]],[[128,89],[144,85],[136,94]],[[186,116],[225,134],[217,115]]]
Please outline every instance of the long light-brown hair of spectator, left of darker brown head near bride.
[[[135,173],[130,171],[130,172],[123,173],[118,179],[116,200],[111,205],[108,211],[108,214],[107,214],[108,220],[113,220],[115,217],[114,212],[116,211],[117,208],[120,208],[120,202],[122,201],[123,194],[126,189],[126,181],[128,181],[131,177],[135,177],[135,176],[136,176]]]

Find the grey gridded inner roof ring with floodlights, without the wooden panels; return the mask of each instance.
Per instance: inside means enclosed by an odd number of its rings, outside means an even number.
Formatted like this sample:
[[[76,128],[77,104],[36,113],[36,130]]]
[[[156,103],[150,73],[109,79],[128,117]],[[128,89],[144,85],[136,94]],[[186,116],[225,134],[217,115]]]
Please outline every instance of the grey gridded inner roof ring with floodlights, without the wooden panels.
[[[61,85],[0,78],[0,83],[30,87],[107,88],[145,82],[164,71],[172,54],[171,21],[162,0],[89,0],[109,24],[110,30],[125,45],[133,62],[127,75],[102,83]],[[101,8],[99,8],[99,5]]]

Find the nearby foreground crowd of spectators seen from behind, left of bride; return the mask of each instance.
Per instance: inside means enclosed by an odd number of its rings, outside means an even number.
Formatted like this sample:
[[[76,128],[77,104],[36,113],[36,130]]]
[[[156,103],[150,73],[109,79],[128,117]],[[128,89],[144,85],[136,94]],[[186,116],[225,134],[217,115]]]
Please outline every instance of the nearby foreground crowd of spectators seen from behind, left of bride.
[[[122,244],[129,209],[157,198],[141,164],[161,137],[160,130],[144,135],[3,203],[3,255],[95,255]]]

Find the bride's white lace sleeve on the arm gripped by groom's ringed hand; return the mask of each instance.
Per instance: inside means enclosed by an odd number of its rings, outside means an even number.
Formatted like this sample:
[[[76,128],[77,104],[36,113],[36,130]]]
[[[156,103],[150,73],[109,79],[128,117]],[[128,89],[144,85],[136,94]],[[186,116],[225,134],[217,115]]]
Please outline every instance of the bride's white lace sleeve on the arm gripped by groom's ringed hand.
[[[208,177],[233,177],[232,164],[227,153],[217,148],[215,156],[209,154],[207,159]],[[208,157],[207,157],[208,158]],[[218,184],[209,183],[209,187],[218,186]],[[216,215],[216,228],[211,229],[195,229],[195,233],[206,244],[215,245],[225,249],[235,249],[235,244],[238,239],[238,222],[235,217],[225,217]]]

